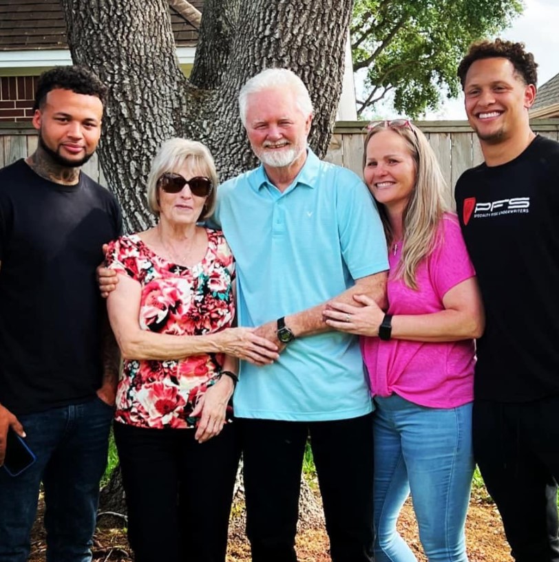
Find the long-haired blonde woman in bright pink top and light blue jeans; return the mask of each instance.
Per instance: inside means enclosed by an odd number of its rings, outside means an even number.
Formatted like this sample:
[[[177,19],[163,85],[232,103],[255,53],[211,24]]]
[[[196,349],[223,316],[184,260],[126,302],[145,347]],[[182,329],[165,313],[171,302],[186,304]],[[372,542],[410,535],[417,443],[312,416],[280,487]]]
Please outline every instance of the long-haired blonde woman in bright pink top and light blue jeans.
[[[361,336],[375,413],[376,562],[416,562],[396,530],[411,492],[430,562],[467,562],[474,471],[474,338],[485,325],[456,215],[435,155],[408,120],[369,128],[363,175],[390,256],[388,311],[366,295],[331,303],[328,325]]]

